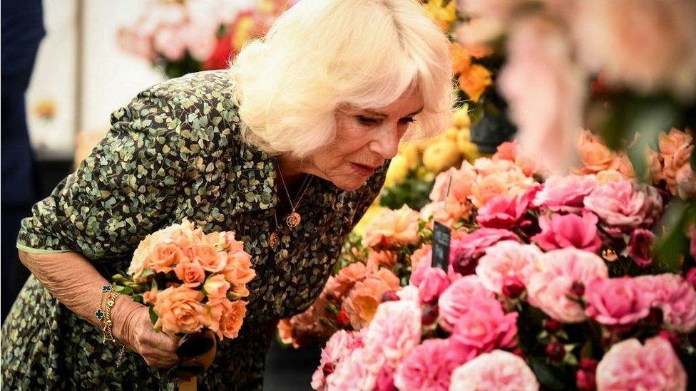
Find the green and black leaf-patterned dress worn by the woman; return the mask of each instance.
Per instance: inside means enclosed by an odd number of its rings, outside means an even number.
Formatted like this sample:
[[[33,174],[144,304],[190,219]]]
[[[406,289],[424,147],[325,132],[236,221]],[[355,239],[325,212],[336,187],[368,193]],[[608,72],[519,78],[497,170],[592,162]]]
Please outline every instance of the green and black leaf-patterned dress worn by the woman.
[[[230,83],[227,71],[193,73],[155,85],[116,110],[106,138],[22,221],[17,244],[34,253],[79,252],[109,278],[128,268],[146,234],[184,217],[205,231],[236,231],[257,278],[249,285],[240,336],[218,349],[213,367],[198,378],[202,390],[262,386],[277,320],[302,312],[319,295],[385,170],[356,192],[315,178],[298,209],[300,226],[280,226],[269,246],[276,162],[240,140]],[[173,387],[133,352],[116,369],[101,330],[33,276],[4,323],[1,358],[7,390]]]

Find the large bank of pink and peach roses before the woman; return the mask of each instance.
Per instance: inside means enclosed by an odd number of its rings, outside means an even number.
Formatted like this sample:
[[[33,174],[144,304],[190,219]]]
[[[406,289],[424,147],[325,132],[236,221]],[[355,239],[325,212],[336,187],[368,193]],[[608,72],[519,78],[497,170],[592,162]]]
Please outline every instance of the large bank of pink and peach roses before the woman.
[[[296,345],[314,330],[337,330],[312,387],[692,387],[696,193],[691,174],[677,172],[690,171],[694,141],[677,129],[659,140],[647,154],[651,184],[636,180],[625,154],[583,132],[573,174],[547,176],[508,142],[439,174],[419,213],[379,212],[345,246],[332,281],[379,261],[400,287],[382,293],[360,324],[320,318],[316,328],[297,327],[300,314],[281,330]],[[674,205],[686,210],[685,231],[666,228]],[[433,264],[434,221],[451,228],[444,268]],[[677,261],[658,251],[665,232]],[[350,318],[342,304],[338,313]]]

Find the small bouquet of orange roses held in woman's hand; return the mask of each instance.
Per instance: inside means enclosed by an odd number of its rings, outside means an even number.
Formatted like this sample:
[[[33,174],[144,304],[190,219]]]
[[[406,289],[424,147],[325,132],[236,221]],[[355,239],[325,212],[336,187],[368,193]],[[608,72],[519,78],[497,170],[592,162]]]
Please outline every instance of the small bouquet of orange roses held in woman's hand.
[[[186,337],[206,331],[223,340],[236,338],[242,327],[247,283],[256,275],[251,266],[234,232],[204,234],[183,219],[145,236],[128,273],[113,276],[113,285],[149,306],[155,331]]]

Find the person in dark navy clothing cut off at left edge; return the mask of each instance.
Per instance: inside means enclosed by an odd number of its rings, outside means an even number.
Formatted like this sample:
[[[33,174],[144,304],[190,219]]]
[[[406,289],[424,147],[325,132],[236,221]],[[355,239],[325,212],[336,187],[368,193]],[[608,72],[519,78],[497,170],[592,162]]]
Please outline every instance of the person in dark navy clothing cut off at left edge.
[[[31,215],[38,184],[26,127],[24,93],[44,38],[41,0],[2,1],[1,9],[1,315],[5,319],[29,277],[15,246],[19,222]]]

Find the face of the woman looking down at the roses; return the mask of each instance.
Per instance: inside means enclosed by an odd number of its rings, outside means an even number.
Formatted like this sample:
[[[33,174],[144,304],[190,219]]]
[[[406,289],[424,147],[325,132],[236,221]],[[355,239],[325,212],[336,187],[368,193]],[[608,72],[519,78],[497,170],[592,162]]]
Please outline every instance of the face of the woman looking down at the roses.
[[[381,108],[340,108],[336,113],[336,137],[312,153],[302,171],[333,182],[340,189],[358,189],[384,160],[396,155],[399,140],[423,105],[421,93],[410,89]]]

